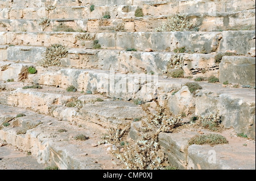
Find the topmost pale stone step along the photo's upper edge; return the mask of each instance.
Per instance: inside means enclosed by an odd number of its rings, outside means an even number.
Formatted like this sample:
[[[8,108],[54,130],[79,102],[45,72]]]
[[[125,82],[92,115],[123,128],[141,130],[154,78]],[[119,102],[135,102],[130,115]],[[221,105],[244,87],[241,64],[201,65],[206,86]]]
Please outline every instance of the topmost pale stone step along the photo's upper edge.
[[[80,3],[81,2],[81,3]],[[208,12],[210,14],[216,14],[217,12],[235,12],[243,11],[249,9],[255,9],[255,3],[250,0],[241,1],[133,1],[128,2],[127,4],[121,4],[118,2],[115,4],[109,2],[104,2],[98,4],[97,2],[88,2],[84,1],[73,2],[73,1],[55,1],[55,2],[28,2],[14,3],[14,6],[11,6],[9,3],[2,3],[1,10],[1,19],[15,19],[23,18],[30,19],[31,15],[35,19],[39,19],[45,16],[48,18],[55,19],[57,18],[71,18],[71,17],[88,17],[94,16],[101,18],[102,12],[110,11],[112,17],[118,16],[134,16],[134,11],[137,7],[141,7],[144,15],[165,15],[165,14],[186,14],[186,13],[200,13],[204,14]],[[90,6],[94,5],[94,10],[90,11]],[[33,12],[34,11],[34,12]],[[73,13],[75,11],[75,13]],[[64,14],[63,14],[64,13]],[[60,17],[61,16],[61,17]],[[36,18],[38,17],[38,18]]]

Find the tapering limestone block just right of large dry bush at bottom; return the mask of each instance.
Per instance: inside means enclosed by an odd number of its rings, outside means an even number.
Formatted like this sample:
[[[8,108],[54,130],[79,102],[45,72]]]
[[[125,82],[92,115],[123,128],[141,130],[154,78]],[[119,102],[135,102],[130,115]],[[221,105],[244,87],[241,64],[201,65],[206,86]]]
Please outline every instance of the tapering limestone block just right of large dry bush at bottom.
[[[159,145],[167,154],[170,164],[178,169],[187,169],[188,140],[195,135],[195,132],[159,133]]]

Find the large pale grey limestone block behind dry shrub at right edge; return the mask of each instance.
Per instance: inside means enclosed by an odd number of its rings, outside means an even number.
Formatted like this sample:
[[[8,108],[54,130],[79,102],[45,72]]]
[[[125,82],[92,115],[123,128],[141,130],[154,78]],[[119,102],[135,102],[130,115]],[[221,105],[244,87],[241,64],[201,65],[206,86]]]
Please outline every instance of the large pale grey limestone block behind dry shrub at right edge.
[[[225,128],[233,127],[237,133],[247,134],[255,139],[255,91],[236,89],[221,92],[213,88],[199,90],[196,94],[196,115],[207,115],[220,111],[221,124]],[[224,91],[224,90],[223,90]]]

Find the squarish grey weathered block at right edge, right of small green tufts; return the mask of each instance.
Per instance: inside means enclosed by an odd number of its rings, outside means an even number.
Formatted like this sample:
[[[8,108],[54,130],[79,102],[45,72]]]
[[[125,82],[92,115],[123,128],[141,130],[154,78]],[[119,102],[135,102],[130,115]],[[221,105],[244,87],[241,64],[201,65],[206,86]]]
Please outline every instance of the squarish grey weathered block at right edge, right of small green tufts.
[[[255,85],[255,58],[222,57],[219,79],[221,83],[228,81],[232,84]]]

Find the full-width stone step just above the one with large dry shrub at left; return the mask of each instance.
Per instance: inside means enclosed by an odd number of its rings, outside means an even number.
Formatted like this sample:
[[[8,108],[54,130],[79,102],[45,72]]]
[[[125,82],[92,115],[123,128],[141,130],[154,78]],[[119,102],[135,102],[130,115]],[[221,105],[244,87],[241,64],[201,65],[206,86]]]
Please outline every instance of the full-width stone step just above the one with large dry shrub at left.
[[[255,31],[223,32],[0,32],[0,45],[51,46],[61,44],[69,48],[93,48],[94,40],[102,49],[134,48],[144,51],[225,52],[236,50],[247,54],[255,47]],[[236,44],[233,42],[236,41]],[[190,43],[189,45],[187,43]]]

